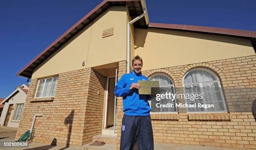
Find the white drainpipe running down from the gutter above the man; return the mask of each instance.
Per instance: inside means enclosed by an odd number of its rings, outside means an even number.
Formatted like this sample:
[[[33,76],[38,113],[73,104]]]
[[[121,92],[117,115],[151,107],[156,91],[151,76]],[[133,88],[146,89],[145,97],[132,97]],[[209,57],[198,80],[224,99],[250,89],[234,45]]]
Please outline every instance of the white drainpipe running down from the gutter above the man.
[[[139,20],[142,17],[145,17],[146,20],[146,24],[148,25],[149,20],[148,20],[148,11],[147,11],[147,7],[146,7],[146,2],[145,0],[141,0],[141,5],[143,8],[143,13],[141,15],[139,15],[138,17],[134,18],[133,20],[131,20],[128,24],[127,24],[127,74],[130,73],[130,27],[131,24],[135,23],[137,20]]]

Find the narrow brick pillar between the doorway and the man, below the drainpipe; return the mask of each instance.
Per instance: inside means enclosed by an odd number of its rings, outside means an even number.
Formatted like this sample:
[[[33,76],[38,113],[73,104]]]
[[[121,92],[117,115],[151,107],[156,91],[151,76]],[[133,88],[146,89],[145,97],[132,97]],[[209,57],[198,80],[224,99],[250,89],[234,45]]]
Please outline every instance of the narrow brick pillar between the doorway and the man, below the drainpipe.
[[[127,62],[126,61],[120,61],[118,64],[118,80],[121,78],[123,74],[127,73]],[[117,103],[117,150],[120,150],[120,139],[121,139],[121,126],[122,126],[122,119],[123,119],[123,98],[118,97],[118,103]]]

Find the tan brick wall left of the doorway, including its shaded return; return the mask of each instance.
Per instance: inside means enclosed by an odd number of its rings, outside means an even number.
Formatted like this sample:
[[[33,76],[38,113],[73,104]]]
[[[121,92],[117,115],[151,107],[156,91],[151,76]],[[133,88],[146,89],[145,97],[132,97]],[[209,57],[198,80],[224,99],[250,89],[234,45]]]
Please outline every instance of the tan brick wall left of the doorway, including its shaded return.
[[[84,145],[101,133],[105,76],[91,68],[59,74],[54,99],[31,102],[37,83],[32,79],[15,139],[30,129],[34,114],[43,114],[35,122],[37,142]]]

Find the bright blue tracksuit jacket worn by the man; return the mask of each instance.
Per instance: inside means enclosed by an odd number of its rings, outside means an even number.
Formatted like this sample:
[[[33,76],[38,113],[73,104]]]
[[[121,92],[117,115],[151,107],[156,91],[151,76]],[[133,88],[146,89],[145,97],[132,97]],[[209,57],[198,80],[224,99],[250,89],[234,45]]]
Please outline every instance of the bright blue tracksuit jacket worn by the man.
[[[138,89],[130,90],[131,84],[138,83],[138,80],[148,80],[148,78],[131,71],[130,74],[124,74],[115,86],[115,96],[123,97],[123,111],[125,115],[150,115],[151,108],[147,100],[150,100],[151,97],[149,95],[139,95]]]

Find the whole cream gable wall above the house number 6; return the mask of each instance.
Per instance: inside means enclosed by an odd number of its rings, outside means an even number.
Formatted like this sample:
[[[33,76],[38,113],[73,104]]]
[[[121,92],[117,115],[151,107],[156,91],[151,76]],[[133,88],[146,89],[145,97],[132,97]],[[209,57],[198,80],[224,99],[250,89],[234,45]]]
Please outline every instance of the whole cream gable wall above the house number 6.
[[[126,24],[126,7],[110,7],[34,69],[31,79],[126,60]],[[112,27],[114,35],[102,38]]]

